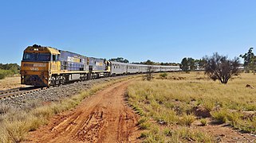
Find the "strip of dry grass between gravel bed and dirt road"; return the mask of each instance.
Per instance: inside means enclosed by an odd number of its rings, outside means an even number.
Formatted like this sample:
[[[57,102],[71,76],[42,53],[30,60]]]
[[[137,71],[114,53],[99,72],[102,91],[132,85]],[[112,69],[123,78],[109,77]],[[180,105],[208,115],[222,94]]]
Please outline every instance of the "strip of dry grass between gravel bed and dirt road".
[[[8,106],[0,106],[0,142],[26,141],[28,132],[47,124],[49,118],[54,114],[70,110],[77,106],[83,99],[100,91],[104,87],[130,78],[116,79],[108,83],[99,83],[79,95],[73,95],[70,99],[63,99],[61,102],[52,102],[47,106],[34,106],[31,102],[30,109],[13,110]]]

